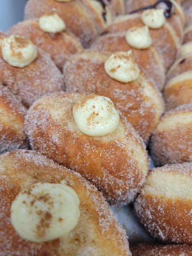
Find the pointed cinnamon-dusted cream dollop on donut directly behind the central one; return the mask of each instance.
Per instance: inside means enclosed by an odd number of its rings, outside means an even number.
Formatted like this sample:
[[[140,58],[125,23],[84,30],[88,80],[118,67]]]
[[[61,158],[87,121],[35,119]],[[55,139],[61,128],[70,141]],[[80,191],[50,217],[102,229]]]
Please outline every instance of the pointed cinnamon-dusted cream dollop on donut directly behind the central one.
[[[105,71],[110,78],[123,83],[136,80],[140,72],[132,50],[113,53],[105,62]]]

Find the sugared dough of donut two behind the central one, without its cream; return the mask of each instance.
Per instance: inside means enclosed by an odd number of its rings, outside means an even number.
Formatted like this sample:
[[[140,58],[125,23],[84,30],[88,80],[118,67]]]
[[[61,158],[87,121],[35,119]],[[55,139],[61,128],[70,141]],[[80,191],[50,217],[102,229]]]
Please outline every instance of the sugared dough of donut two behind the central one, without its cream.
[[[141,50],[131,47],[126,41],[126,32],[121,32],[97,37],[91,49],[111,53],[132,50],[139,68],[154,86],[162,90],[165,83],[165,68],[161,56],[154,46]]]

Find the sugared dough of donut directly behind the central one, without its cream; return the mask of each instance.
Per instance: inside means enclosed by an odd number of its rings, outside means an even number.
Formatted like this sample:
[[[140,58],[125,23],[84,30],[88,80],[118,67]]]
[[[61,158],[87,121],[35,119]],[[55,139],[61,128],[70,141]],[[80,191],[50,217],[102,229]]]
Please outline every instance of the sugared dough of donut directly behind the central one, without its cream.
[[[63,69],[66,91],[79,90],[109,97],[147,144],[164,112],[162,96],[141,71],[136,80],[127,83],[108,76],[105,62],[110,56],[91,50],[73,55]]]

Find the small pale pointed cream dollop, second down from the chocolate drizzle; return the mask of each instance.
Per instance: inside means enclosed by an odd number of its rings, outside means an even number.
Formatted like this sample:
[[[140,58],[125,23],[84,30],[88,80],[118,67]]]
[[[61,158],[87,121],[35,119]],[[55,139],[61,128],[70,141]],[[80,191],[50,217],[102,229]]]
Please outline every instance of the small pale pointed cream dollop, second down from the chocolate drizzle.
[[[148,26],[132,27],[126,33],[127,43],[135,49],[147,49],[152,44]]]

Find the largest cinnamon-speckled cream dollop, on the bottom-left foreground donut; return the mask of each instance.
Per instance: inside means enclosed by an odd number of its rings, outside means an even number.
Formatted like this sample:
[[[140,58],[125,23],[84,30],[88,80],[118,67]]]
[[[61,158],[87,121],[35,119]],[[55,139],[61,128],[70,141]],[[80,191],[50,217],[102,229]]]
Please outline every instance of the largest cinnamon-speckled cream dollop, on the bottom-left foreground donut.
[[[21,238],[44,242],[69,233],[80,216],[79,197],[73,188],[35,183],[22,190],[11,205],[11,222]]]

